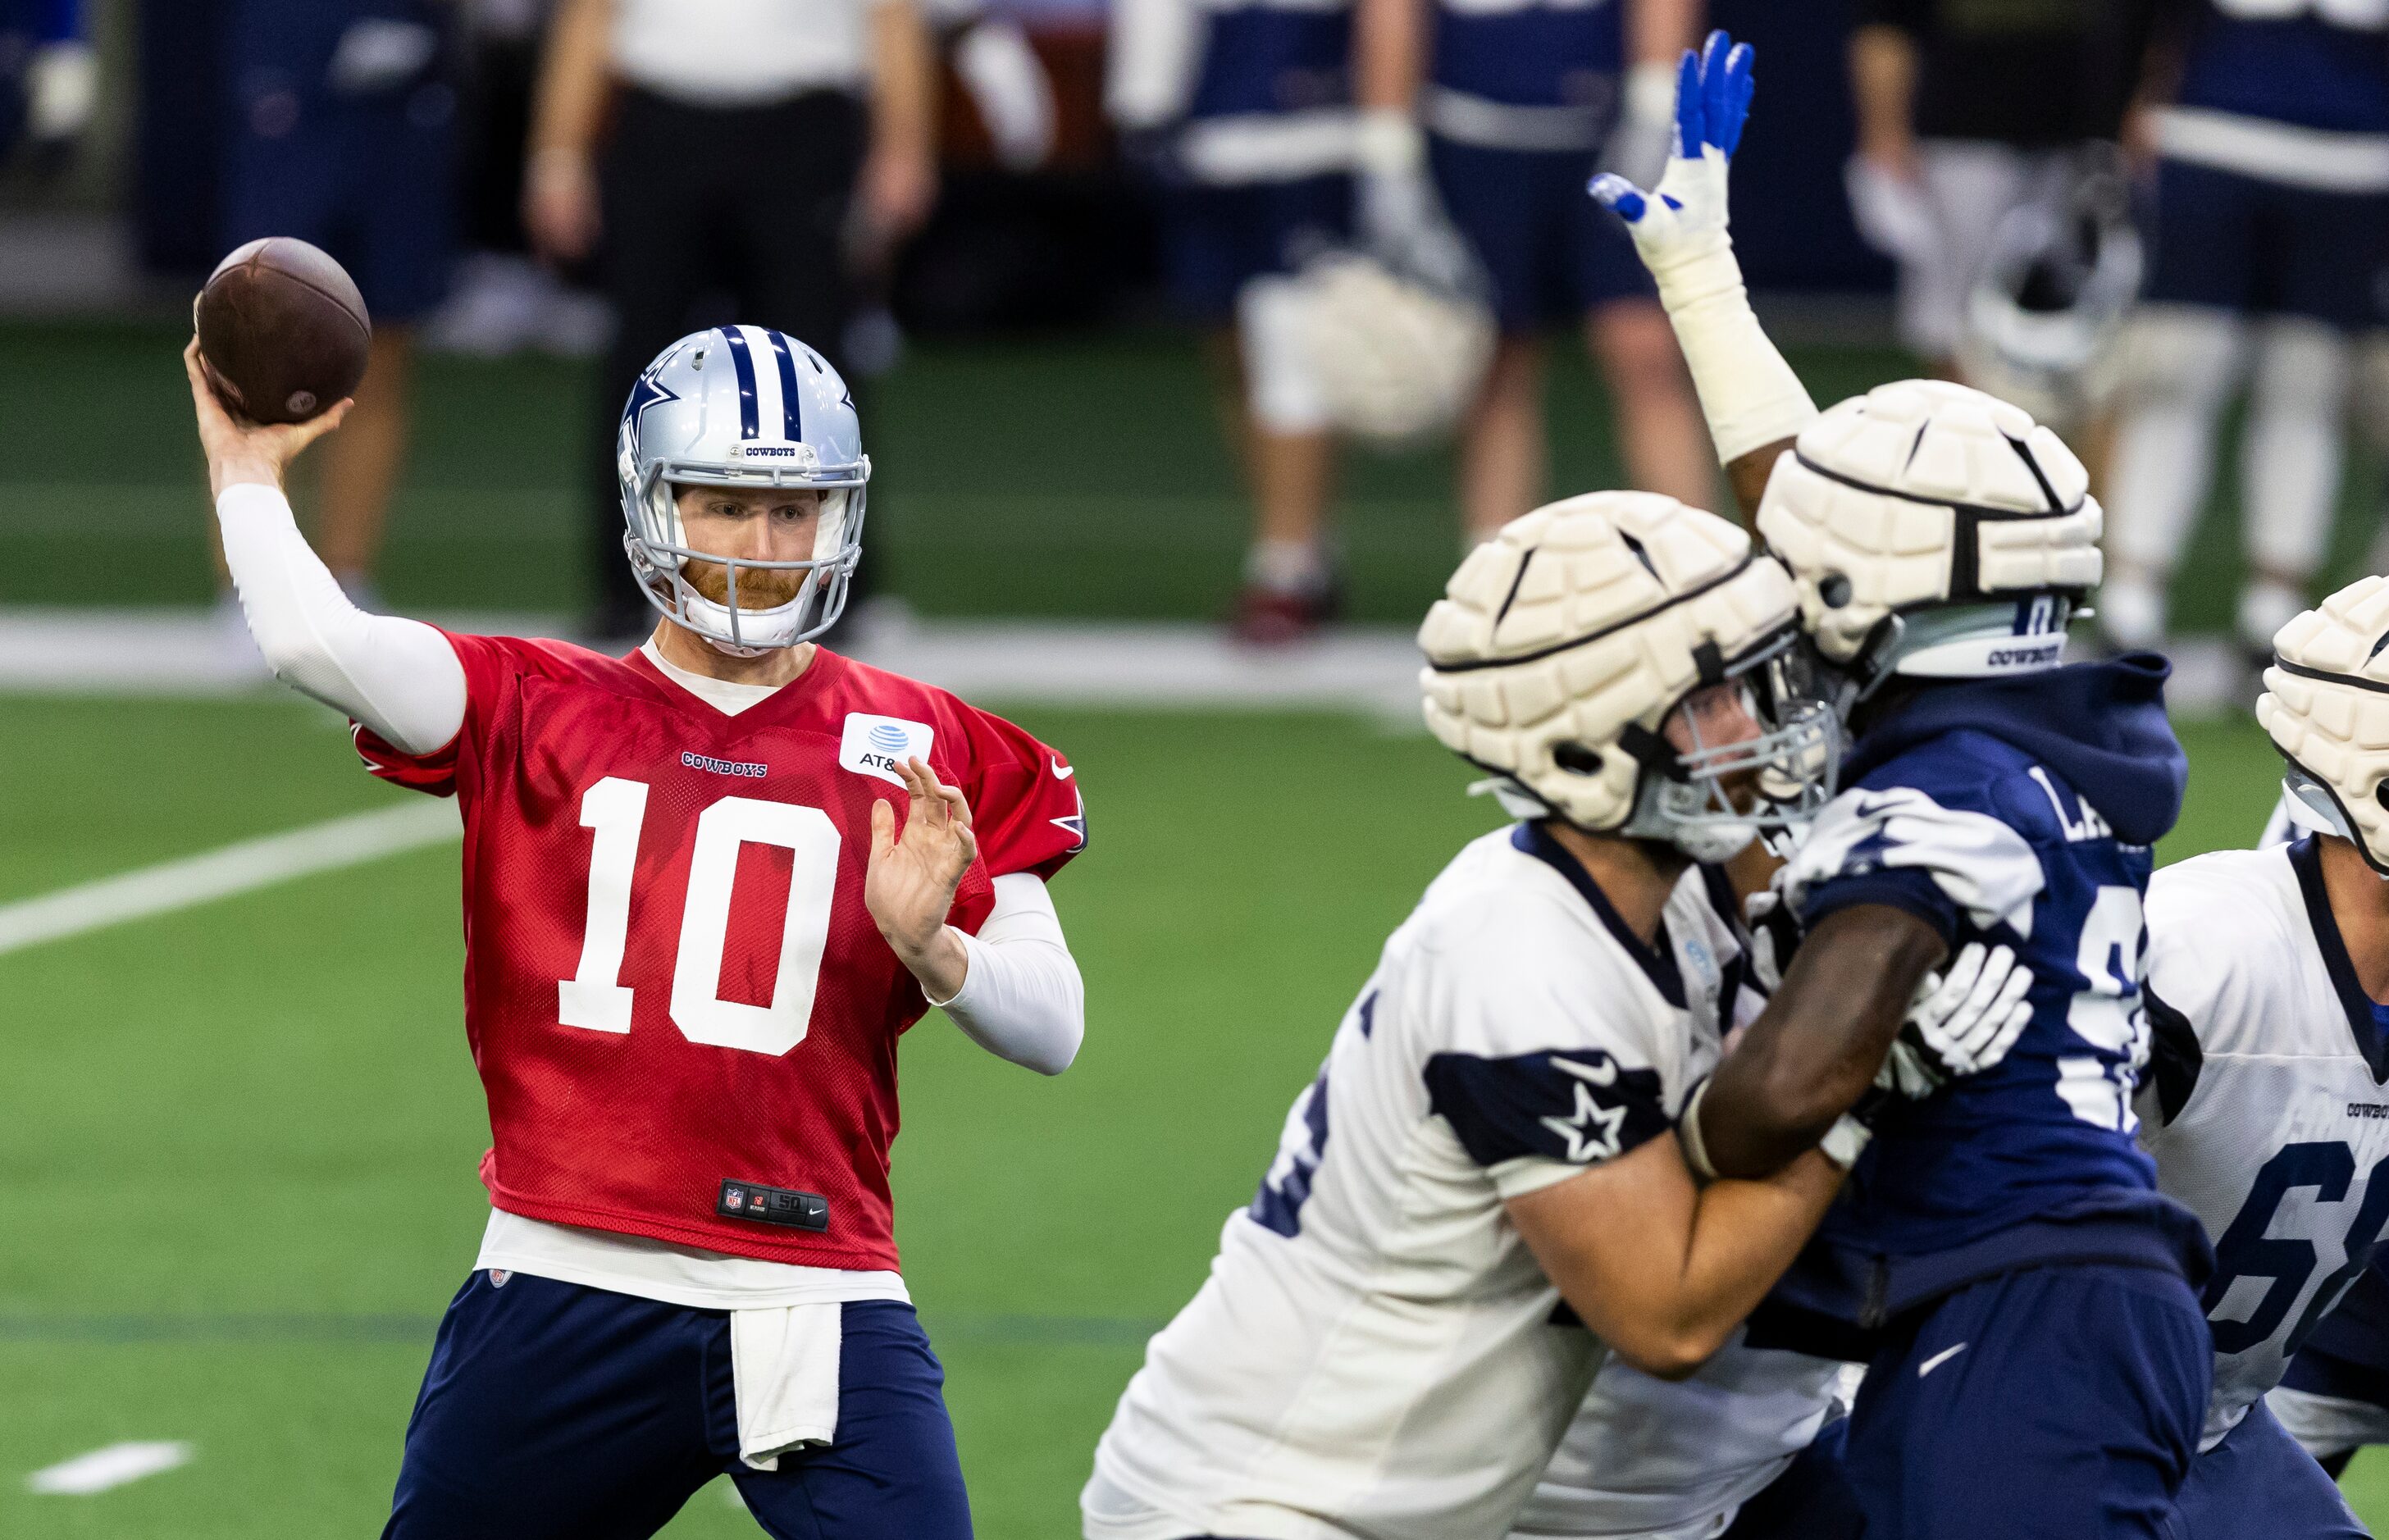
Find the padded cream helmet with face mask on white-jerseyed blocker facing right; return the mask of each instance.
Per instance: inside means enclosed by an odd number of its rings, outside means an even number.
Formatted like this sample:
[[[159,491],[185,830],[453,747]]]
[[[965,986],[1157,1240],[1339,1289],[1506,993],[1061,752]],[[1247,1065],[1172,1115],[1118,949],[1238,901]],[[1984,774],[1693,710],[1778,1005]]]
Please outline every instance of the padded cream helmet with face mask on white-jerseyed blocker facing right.
[[[1703,862],[1832,797],[1840,721],[1806,680],[1792,578],[1751,537],[1656,492],[1536,509],[1476,547],[1419,628],[1426,726],[1503,805]],[[1744,683],[1761,738],[1679,752],[1687,695]],[[1737,807],[1727,776],[1768,802]]]

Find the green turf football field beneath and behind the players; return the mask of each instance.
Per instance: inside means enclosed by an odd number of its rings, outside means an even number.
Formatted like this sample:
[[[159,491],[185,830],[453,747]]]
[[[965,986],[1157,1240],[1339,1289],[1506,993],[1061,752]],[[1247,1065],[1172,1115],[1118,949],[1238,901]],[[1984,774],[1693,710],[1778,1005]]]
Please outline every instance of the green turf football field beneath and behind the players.
[[[0,604],[201,604],[179,334],[0,327]],[[1820,396],[1897,361],[1804,349]],[[428,361],[387,590],[581,602],[583,375]],[[1615,482],[1579,365],[1555,487]],[[1242,511],[1185,339],[922,349],[867,396],[872,561],[929,614],[1211,616]],[[1453,559],[1448,458],[1357,458],[1359,618]],[[2370,509],[2358,468],[2348,509]],[[2229,487],[2229,478],[2224,480]],[[2229,499],[2193,552],[2222,623]],[[2344,520],[2341,556],[2370,535]],[[1075,1533],[1140,1344],[1197,1285],[1288,1101],[1419,886],[1493,809],[1417,735],[1343,716],[1022,712],[1080,764],[1094,848],[1056,883],[1089,1041],[1058,1082],[932,1017],[905,1048],[898,1234],[982,1535]],[[2274,759],[2188,728],[2167,855],[2246,843]],[[0,697],[0,903],[401,800],[327,714]],[[0,1535],[356,1535],[385,1511],[432,1323],[473,1261],[487,1127],[459,1024],[449,848],[0,955]],[[98,1497],[22,1476],[119,1440],[198,1459]],[[2389,1461],[2351,1487],[2389,1523]],[[674,1535],[755,1533],[700,1495]]]

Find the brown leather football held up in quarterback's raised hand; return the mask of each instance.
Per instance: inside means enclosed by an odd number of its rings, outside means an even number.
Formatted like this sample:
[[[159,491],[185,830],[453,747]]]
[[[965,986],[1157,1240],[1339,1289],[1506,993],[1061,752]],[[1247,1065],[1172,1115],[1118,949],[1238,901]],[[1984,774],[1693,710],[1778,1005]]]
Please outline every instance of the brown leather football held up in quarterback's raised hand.
[[[306,423],[366,377],[373,320],[323,248],[265,236],[198,291],[198,361],[217,399],[253,423]]]

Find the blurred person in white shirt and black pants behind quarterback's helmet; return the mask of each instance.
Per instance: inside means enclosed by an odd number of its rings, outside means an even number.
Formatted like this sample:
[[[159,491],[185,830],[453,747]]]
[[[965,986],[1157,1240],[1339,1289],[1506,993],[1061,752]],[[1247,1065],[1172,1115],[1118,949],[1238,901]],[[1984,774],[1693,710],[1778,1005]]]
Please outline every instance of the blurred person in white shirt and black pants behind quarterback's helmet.
[[[621,561],[614,435],[647,361],[729,294],[848,380],[853,277],[936,198],[936,76],[915,0],[561,0],[523,177],[552,263],[597,258],[614,344],[590,423],[595,637],[650,626]]]

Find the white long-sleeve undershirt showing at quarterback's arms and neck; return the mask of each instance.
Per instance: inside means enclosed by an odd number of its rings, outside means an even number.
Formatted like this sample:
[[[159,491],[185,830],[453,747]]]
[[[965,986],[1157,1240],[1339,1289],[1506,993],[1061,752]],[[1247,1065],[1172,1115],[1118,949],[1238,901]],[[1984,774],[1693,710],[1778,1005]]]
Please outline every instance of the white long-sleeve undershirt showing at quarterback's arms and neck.
[[[420,621],[370,616],[351,604],[299,532],[280,487],[225,487],[215,518],[248,635],[287,685],[409,754],[430,754],[463,728],[463,664],[449,640]],[[729,716],[772,695],[678,669],[652,645],[647,659]],[[1085,1036],[1077,960],[1044,879],[1013,871],[994,888],[996,905],[979,934],[958,931],[970,967],[960,993],[941,1008],[996,1058],[1061,1074]]]

